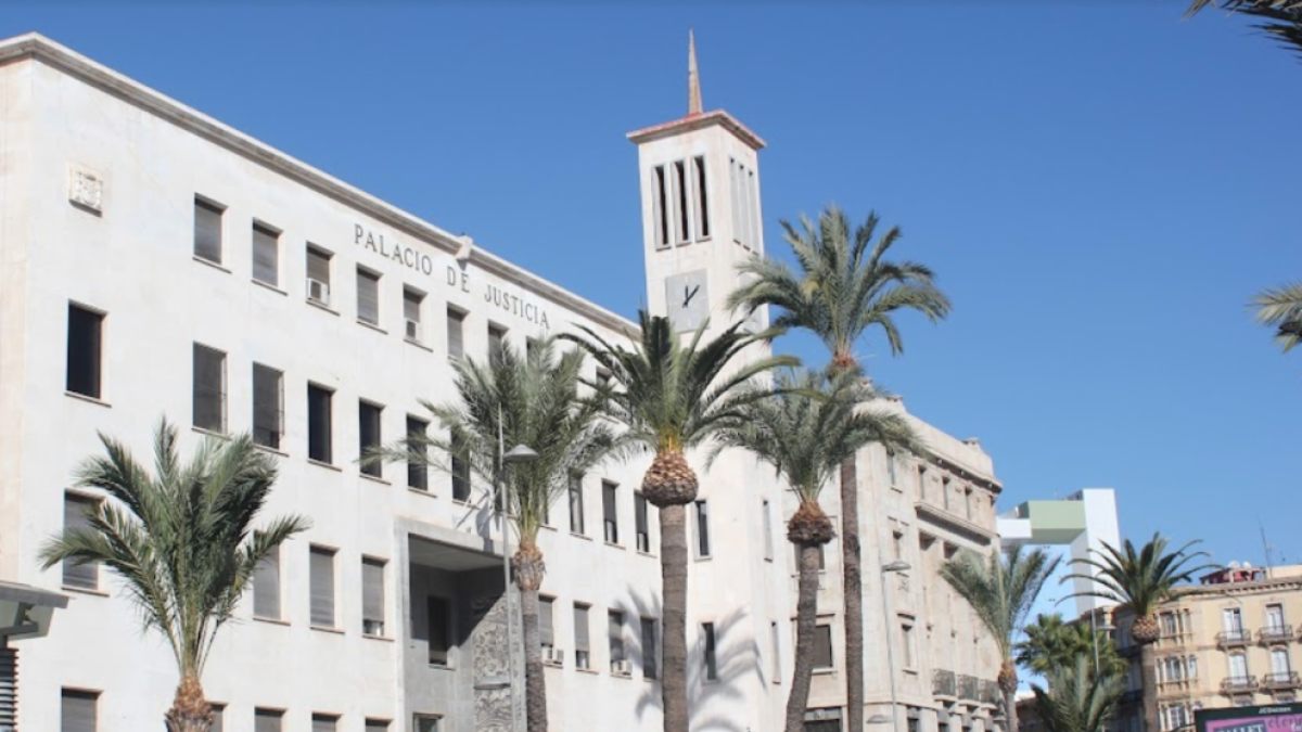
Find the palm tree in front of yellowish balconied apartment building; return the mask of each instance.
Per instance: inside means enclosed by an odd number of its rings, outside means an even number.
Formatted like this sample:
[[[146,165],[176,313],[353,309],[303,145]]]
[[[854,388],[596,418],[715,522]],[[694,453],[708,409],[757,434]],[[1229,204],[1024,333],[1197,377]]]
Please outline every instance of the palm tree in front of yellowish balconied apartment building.
[[[1088,580],[1094,584],[1092,590],[1075,593],[1072,597],[1109,599],[1128,607],[1134,615],[1130,637],[1139,646],[1146,729],[1161,728],[1157,719],[1157,662],[1152,649],[1152,643],[1161,637],[1157,606],[1174,594],[1177,585],[1189,582],[1198,572],[1212,568],[1207,564],[1185,567],[1199,556],[1207,556],[1203,551],[1189,551],[1197,543],[1197,541],[1189,542],[1173,552],[1167,551],[1167,539],[1161,534],[1154,534],[1152,539],[1138,551],[1130,539],[1126,539],[1120,550],[1104,543],[1103,551],[1091,551],[1094,556],[1072,561],[1086,567],[1085,572],[1066,577]],[[1090,569],[1094,570],[1092,574]]]

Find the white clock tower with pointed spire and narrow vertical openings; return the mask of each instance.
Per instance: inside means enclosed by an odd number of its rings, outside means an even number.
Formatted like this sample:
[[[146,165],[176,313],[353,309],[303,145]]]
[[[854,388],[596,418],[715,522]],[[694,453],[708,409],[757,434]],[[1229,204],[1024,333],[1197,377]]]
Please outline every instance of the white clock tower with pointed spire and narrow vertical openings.
[[[687,115],[629,133],[638,146],[647,306],[680,333],[706,319],[710,331],[741,314],[728,311],[737,264],[764,253],[759,151],[764,141],[723,109],[703,112],[695,39],[687,36]],[[749,327],[768,326],[767,309]]]

